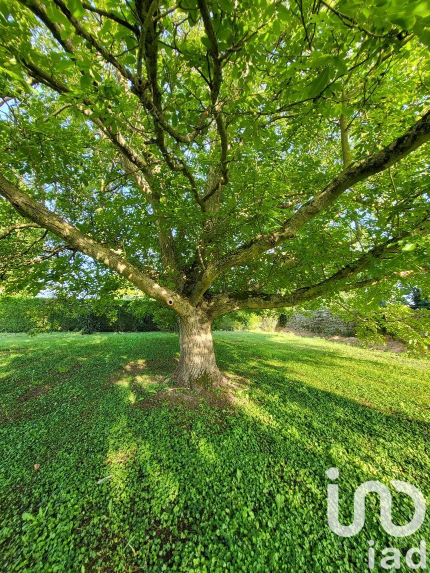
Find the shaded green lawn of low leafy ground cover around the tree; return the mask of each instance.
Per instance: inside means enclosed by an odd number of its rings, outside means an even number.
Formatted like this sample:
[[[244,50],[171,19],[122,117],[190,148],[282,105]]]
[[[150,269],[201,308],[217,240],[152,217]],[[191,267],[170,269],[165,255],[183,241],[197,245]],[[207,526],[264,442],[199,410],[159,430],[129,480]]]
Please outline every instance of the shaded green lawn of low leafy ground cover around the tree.
[[[362,532],[337,537],[325,476],[340,470],[343,523],[365,480],[430,499],[429,362],[284,335],[215,347],[232,402],[163,392],[173,334],[0,335],[3,571],[355,572],[369,539],[430,545],[428,516],[386,535],[374,494]]]

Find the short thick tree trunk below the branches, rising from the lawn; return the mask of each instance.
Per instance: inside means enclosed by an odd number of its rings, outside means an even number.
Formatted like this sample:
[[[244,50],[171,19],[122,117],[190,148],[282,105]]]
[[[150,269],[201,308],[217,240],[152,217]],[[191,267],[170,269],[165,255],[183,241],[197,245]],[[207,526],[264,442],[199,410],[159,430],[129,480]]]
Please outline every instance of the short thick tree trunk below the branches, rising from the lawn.
[[[179,316],[179,364],[171,380],[175,386],[218,387],[224,376],[218,369],[212,342],[212,321],[201,309]]]

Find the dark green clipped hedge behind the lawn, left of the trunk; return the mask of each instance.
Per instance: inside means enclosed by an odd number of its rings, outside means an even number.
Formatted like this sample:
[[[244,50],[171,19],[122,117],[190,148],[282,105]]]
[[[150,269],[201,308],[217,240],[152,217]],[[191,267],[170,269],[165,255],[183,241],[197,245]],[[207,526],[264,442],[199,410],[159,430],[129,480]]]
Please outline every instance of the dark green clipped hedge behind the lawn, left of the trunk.
[[[157,331],[151,314],[136,316],[130,301],[57,300],[0,296],[0,332],[58,332],[91,328],[99,332]]]

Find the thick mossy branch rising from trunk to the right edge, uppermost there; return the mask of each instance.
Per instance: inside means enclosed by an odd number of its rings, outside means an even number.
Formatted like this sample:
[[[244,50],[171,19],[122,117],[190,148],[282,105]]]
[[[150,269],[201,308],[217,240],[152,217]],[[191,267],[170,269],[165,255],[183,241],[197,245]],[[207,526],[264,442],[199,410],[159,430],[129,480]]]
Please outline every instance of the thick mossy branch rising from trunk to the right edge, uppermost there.
[[[193,299],[200,300],[213,280],[224,270],[259,256],[265,251],[280,245],[288,239],[293,239],[296,233],[310,219],[326,209],[335,199],[355,183],[367,179],[371,175],[384,171],[406,155],[416,150],[430,139],[430,111],[425,113],[415,125],[404,135],[390,143],[389,146],[377,151],[373,155],[351,163],[338,175],[325,189],[315,195],[313,199],[302,205],[282,227],[263,237],[257,236],[245,245],[225,254],[219,260],[210,263],[196,285]]]

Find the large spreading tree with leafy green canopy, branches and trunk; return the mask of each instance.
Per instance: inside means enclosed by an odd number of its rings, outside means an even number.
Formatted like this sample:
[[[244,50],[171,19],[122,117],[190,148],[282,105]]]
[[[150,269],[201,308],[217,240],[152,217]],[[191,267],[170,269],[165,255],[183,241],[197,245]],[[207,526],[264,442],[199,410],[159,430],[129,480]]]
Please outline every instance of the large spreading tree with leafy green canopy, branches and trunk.
[[[0,10],[4,288],[131,283],[219,384],[214,317],[429,268],[427,2]]]

